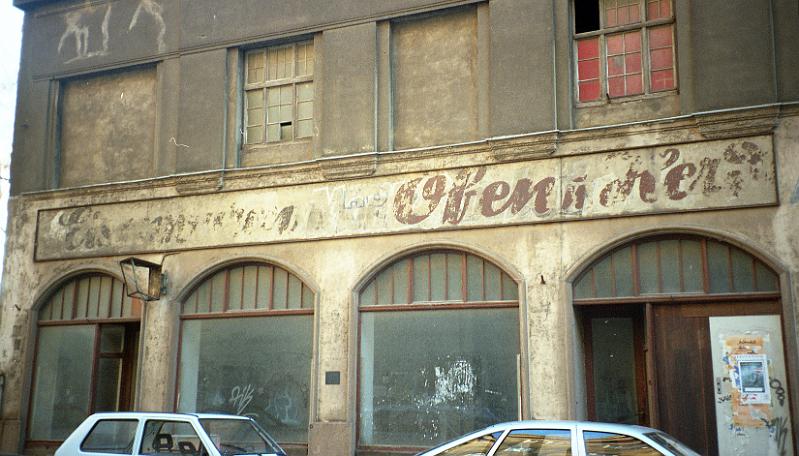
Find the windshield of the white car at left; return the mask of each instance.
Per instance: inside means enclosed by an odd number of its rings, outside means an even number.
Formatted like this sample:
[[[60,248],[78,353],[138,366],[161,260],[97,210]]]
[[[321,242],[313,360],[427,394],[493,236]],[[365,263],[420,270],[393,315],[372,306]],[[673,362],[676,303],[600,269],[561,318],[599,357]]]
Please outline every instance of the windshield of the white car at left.
[[[284,454],[280,446],[252,421],[209,418],[200,420],[200,424],[223,456]]]

